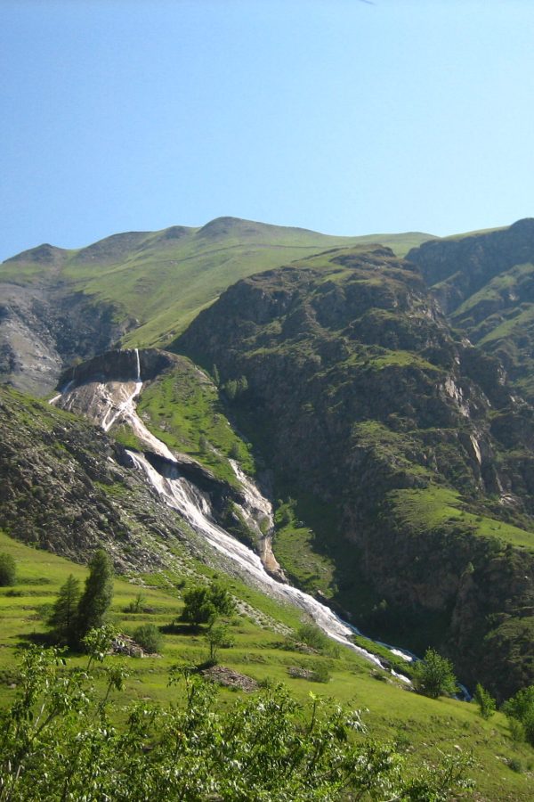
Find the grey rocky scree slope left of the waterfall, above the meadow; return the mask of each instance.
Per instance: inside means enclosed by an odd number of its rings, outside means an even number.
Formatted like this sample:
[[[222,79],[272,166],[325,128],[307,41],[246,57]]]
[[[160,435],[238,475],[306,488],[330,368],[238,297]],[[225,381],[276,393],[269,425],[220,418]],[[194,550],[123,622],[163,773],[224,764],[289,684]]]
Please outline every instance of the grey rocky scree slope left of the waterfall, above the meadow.
[[[0,422],[0,528],[77,562],[103,545],[121,571],[177,559],[185,530],[117,442],[10,389],[0,389]]]

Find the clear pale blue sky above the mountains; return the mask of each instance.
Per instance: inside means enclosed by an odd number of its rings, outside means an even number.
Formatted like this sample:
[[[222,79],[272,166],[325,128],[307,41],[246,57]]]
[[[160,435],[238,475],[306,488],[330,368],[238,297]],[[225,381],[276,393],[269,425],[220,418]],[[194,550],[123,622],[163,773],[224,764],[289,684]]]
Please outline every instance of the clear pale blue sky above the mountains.
[[[0,258],[534,215],[532,0],[0,0]]]

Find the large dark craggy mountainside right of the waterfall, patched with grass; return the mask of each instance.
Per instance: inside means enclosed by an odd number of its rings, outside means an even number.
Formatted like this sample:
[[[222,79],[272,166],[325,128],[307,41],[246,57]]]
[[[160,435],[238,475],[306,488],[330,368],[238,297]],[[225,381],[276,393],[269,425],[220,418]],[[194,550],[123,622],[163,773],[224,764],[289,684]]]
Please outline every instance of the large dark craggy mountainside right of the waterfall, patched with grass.
[[[279,487],[334,511],[334,601],[384,636],[425,633],[467,682],[532,681],[532,410],[453,335],[416,266],[333,250],[254,275],[174,348],[216,364]]]

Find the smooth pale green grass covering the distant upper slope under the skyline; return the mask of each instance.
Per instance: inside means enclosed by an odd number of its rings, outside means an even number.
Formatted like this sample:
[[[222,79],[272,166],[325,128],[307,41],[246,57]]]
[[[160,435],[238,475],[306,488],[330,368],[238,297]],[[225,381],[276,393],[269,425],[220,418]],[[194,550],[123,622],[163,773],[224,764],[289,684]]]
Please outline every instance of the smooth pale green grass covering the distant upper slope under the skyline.
[[[139,233],[110,237],[98,247],[65,251],[51,269],[28,260],[0,266],[2,281],[63,282],[117,306],[117,316],[133,317],[139,326],[124,338],[128,347],[168,343],[227,287],[247,275],[305,258],[320,250],[370,244],[376,237],[400,255],[430,238],[425,233],[332,237],[277,225],[221,218],[202,229]],[[121,235],[122,236],[122,235]]]

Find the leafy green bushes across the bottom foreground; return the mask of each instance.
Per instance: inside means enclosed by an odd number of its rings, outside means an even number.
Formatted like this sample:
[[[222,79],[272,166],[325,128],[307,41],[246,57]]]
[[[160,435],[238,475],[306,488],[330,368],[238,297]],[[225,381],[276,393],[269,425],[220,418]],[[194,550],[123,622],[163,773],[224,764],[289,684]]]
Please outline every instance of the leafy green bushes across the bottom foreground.
[[[394,747],[354,737],[364,732],[357,712],[313,694],[302,708],[281,686],[219,708],[214,686],[186,668],[171,677],[185,684],[182,706],[131,704],[119,727],[109,716],[109,694],[124,679],[117,661],[101,694],[89,674],[111,635],[87,636],[85,671],[58,649],[24,654],[16,700],[0,717],[2,802],[438,802],[469,785],[461,757],[417,765],[414,779]]]

